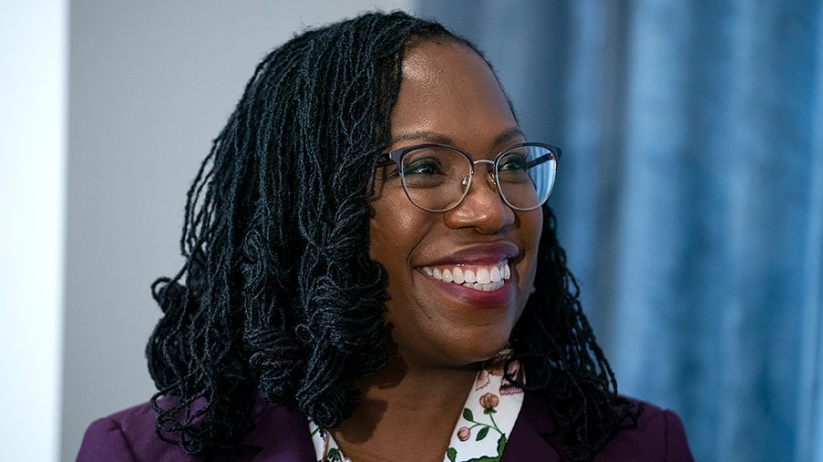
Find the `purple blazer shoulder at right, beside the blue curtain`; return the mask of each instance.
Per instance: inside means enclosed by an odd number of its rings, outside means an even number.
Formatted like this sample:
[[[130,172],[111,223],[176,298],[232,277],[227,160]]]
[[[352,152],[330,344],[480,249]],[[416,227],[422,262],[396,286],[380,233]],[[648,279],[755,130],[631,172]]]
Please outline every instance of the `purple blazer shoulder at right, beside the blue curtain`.
[[[683,423],[673,411],[626,398],[641,409],[635,428],[619,430],[594,460],[693,460]]]

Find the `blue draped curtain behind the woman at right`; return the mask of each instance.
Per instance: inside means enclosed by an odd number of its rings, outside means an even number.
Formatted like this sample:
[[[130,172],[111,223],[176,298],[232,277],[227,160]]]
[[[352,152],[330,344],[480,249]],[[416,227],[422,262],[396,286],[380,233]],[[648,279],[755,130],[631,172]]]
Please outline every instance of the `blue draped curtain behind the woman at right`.
[[[823,7],[420,0],[529,139],[621,393],[698,460],[823,461]]]

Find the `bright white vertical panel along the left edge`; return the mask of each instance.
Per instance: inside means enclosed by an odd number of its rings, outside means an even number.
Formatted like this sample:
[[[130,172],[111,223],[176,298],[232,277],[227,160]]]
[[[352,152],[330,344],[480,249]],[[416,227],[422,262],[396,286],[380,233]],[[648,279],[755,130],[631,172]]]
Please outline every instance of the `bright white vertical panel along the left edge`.
[[[0,2],[0,460],[59,454],[68,2]]]

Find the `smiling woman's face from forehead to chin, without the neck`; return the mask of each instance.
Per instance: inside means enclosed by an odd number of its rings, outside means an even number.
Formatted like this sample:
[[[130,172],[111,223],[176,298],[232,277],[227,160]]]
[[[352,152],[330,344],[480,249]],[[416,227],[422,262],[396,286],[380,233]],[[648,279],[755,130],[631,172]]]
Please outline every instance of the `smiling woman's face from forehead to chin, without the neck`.
[[[423,142],[450,144],[475,159],[494,159],[524,142],[497,79],[482,58],[455,43],[407,48],[391,114],[397,149]],[[542,213],[517,212],[485,180],[477,164],[471,189],[456,208],[426,212],[403,192],[396,166],[380,167],[372,201],[370,256],[389,275],[386,318],[398,353],[410,366],[454,367],[483,361],[502,349],[534,281]],[[459,268],[510,278],[482,291],[430,273]]]

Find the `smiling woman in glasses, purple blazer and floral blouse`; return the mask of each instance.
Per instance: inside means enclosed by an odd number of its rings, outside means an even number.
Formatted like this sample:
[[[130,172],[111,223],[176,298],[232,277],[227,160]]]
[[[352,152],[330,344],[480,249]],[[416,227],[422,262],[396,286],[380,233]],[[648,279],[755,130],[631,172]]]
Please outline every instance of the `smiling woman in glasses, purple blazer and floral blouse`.
[[[79,460],[690,459],[616,394],[545,205],[559,157],[440,25],[294,37],[189,190],[159,392]]]

